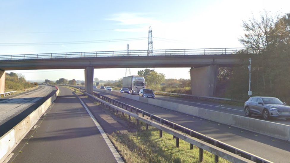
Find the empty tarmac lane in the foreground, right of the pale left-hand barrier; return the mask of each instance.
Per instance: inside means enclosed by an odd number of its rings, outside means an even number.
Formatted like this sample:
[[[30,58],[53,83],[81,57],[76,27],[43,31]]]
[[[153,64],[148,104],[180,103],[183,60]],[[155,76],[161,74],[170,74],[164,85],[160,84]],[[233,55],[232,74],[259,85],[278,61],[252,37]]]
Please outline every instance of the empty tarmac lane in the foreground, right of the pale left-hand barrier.
[[[117,162],[72,91],[60,95],[12,153],[9,162]]]

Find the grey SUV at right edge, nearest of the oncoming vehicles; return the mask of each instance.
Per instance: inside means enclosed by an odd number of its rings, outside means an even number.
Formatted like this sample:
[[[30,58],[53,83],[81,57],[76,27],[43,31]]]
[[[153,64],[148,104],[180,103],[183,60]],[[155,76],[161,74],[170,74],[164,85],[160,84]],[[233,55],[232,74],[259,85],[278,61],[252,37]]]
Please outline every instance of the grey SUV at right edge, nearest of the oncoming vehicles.
[[[290,106],[276,97],[250,97],[245,102],[245,115],[261,115],[264,119],[270,117],[290,118]]]

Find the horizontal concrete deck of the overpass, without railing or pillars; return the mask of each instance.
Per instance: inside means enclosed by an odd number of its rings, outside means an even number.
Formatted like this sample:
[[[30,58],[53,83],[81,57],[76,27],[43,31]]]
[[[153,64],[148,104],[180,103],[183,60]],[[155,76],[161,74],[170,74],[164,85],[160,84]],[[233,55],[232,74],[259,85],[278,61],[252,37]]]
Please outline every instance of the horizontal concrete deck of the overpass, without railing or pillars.
[[[29,69],[85,69],[94,68],[144,68],[144,67],[234,67],[241,59],[250,55],[189,55],[189,56],[130,56],[130,57],[91,57],[53,58],[0,61],[2,70]]]

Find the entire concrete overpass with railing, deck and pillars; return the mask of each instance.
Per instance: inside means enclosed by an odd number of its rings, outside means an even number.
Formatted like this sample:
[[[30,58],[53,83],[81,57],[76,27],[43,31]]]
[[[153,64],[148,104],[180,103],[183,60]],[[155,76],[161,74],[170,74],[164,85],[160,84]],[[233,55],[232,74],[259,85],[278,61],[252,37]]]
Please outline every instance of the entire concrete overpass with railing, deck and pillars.
[[[213,96],[218,67],[233,67],[256,56],[253,48],[164,49],[43,53],[0,56],[0,93],[5,88],[5,70],[85,69],[85,86],[92,93],[94,68],[191,67],[192,94]]]

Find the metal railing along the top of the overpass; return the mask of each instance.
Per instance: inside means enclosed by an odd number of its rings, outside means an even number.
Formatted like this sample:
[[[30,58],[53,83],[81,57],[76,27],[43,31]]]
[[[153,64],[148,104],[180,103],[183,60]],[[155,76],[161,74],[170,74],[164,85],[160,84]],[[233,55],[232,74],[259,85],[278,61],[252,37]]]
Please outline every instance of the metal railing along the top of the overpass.
[[[153,50],[152,55],[153,56],[213,55],[213,54],[226,55],[226,54],[238,54],[238,53],[257,54],[259,53],[259,50],[255,48],[162,49],[162,50]],[[130,50],[129,51],[129,56],[147,56],[147,55],[148,55],[148,50]],[[116,56],[128,56],[127,50],[0,55],[0,60],[116,57]]]

